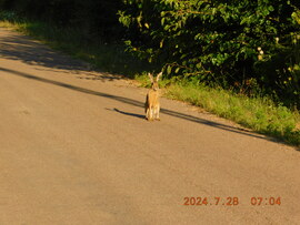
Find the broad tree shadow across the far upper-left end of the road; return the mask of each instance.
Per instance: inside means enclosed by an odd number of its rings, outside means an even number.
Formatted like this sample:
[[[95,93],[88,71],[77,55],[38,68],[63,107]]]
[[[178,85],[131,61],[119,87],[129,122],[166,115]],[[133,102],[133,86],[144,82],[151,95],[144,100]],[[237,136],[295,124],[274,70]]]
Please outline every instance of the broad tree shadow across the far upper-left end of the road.
[[[92,73],[92,67],[81,60],[73,59],[67,54],[58,53],[47,45],[34,41],[30,37],[20,35],[9,32],[9,35],[0,37],[0,57],[8,60],[21,61],[30,65],[41,65],[42,71],[64,70],[66,73],[77,73],[80,71],[78,79],[113,81],[122,76],[103,71],[101,74]],[[70,71],[70,72],[69,72]]]

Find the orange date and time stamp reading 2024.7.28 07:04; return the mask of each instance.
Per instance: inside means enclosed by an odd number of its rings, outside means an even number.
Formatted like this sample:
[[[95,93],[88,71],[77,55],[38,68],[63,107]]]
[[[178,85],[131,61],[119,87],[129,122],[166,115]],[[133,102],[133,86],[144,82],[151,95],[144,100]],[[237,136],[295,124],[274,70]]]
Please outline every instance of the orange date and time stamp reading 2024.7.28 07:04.
[[[249,205],[281,205],[281,197],[250,197],[247,201]],[[184,197],[183,205],[187,206],[208,206],[208,205],[223,205],[223,206],[238,206],[241,201],[237,196],[229,197]]]

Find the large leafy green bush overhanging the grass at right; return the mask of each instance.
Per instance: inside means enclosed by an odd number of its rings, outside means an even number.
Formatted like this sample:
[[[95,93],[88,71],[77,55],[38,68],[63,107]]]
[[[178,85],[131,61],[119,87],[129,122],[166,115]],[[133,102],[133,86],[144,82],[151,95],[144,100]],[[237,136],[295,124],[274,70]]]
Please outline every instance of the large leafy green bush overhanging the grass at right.
[[[130,50],[160,63],[170,76],[197,76],[248,93],[254,83],[300,105],[299,44],[291,41],[300,34],[300,16],[291,1],[124,0],[124,4],[120,21],[136,33],[127,42]]]

